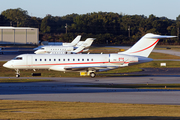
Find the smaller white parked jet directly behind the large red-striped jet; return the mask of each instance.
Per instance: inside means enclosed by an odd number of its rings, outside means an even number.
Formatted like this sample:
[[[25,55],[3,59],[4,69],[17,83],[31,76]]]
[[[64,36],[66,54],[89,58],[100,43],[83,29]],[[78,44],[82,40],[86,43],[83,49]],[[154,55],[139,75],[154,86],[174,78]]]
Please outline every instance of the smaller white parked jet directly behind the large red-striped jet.
[[[44,46],[39,50],[36,50],[36,54],[71,54],[81,53],[84,49],[91,46],[95,39],[87,38],[79,47],[74,46]]]

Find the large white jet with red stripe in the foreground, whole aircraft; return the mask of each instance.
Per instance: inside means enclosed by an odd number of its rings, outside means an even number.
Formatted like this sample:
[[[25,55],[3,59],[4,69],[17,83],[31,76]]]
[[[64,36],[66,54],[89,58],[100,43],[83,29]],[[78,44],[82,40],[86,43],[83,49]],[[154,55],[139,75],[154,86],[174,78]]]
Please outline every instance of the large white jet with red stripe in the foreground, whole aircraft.
[[[15,69],[16,77],[20,76],[19,69],[86,72],[87,75],[95,77],[95,72],[152,61],[153,59],[147,57],[159,39],[172,37],[176,36],[148,33],[129,50],[118,54],[22,54],[8,61],[3,66]]]

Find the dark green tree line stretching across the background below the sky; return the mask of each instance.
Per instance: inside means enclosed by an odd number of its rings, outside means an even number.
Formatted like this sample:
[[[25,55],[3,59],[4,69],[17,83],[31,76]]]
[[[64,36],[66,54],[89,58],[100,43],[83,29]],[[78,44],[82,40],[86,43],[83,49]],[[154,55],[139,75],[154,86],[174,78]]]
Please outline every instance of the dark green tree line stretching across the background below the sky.
[[[146,33],[179,36],[179,23],[180,15],[176,20],[153,14],[146,17],[113,12],[73,13],[62,17],[48,14],[38,18],[21,8],[7,9],[0,14],[0,26],[39,28],[43,41],[71,42],[80,34],[83,40],[96,38],[96,45],[132,45]],[[159,44],[179,45],[180,41],[177,37],[161,40]]]

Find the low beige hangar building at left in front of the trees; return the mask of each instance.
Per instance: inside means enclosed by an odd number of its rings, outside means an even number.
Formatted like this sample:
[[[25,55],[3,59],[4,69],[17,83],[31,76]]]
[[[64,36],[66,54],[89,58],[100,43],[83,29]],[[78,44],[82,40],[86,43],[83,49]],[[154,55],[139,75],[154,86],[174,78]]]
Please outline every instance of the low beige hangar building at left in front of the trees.
[[[38,45],[39,29],[29,27],[0,27],[0,45]]]

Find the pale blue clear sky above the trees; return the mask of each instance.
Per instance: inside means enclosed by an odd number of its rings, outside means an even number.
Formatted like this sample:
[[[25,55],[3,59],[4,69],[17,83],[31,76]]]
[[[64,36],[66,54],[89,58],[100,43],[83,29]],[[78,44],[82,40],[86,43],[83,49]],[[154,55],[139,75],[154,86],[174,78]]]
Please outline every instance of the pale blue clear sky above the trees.
[[[0,0],[0,13],[21,8],[30,16],[44,18],[67,14],[114,12],[123,15],[149,15],[176,20],[180,15],[180,0]]]

